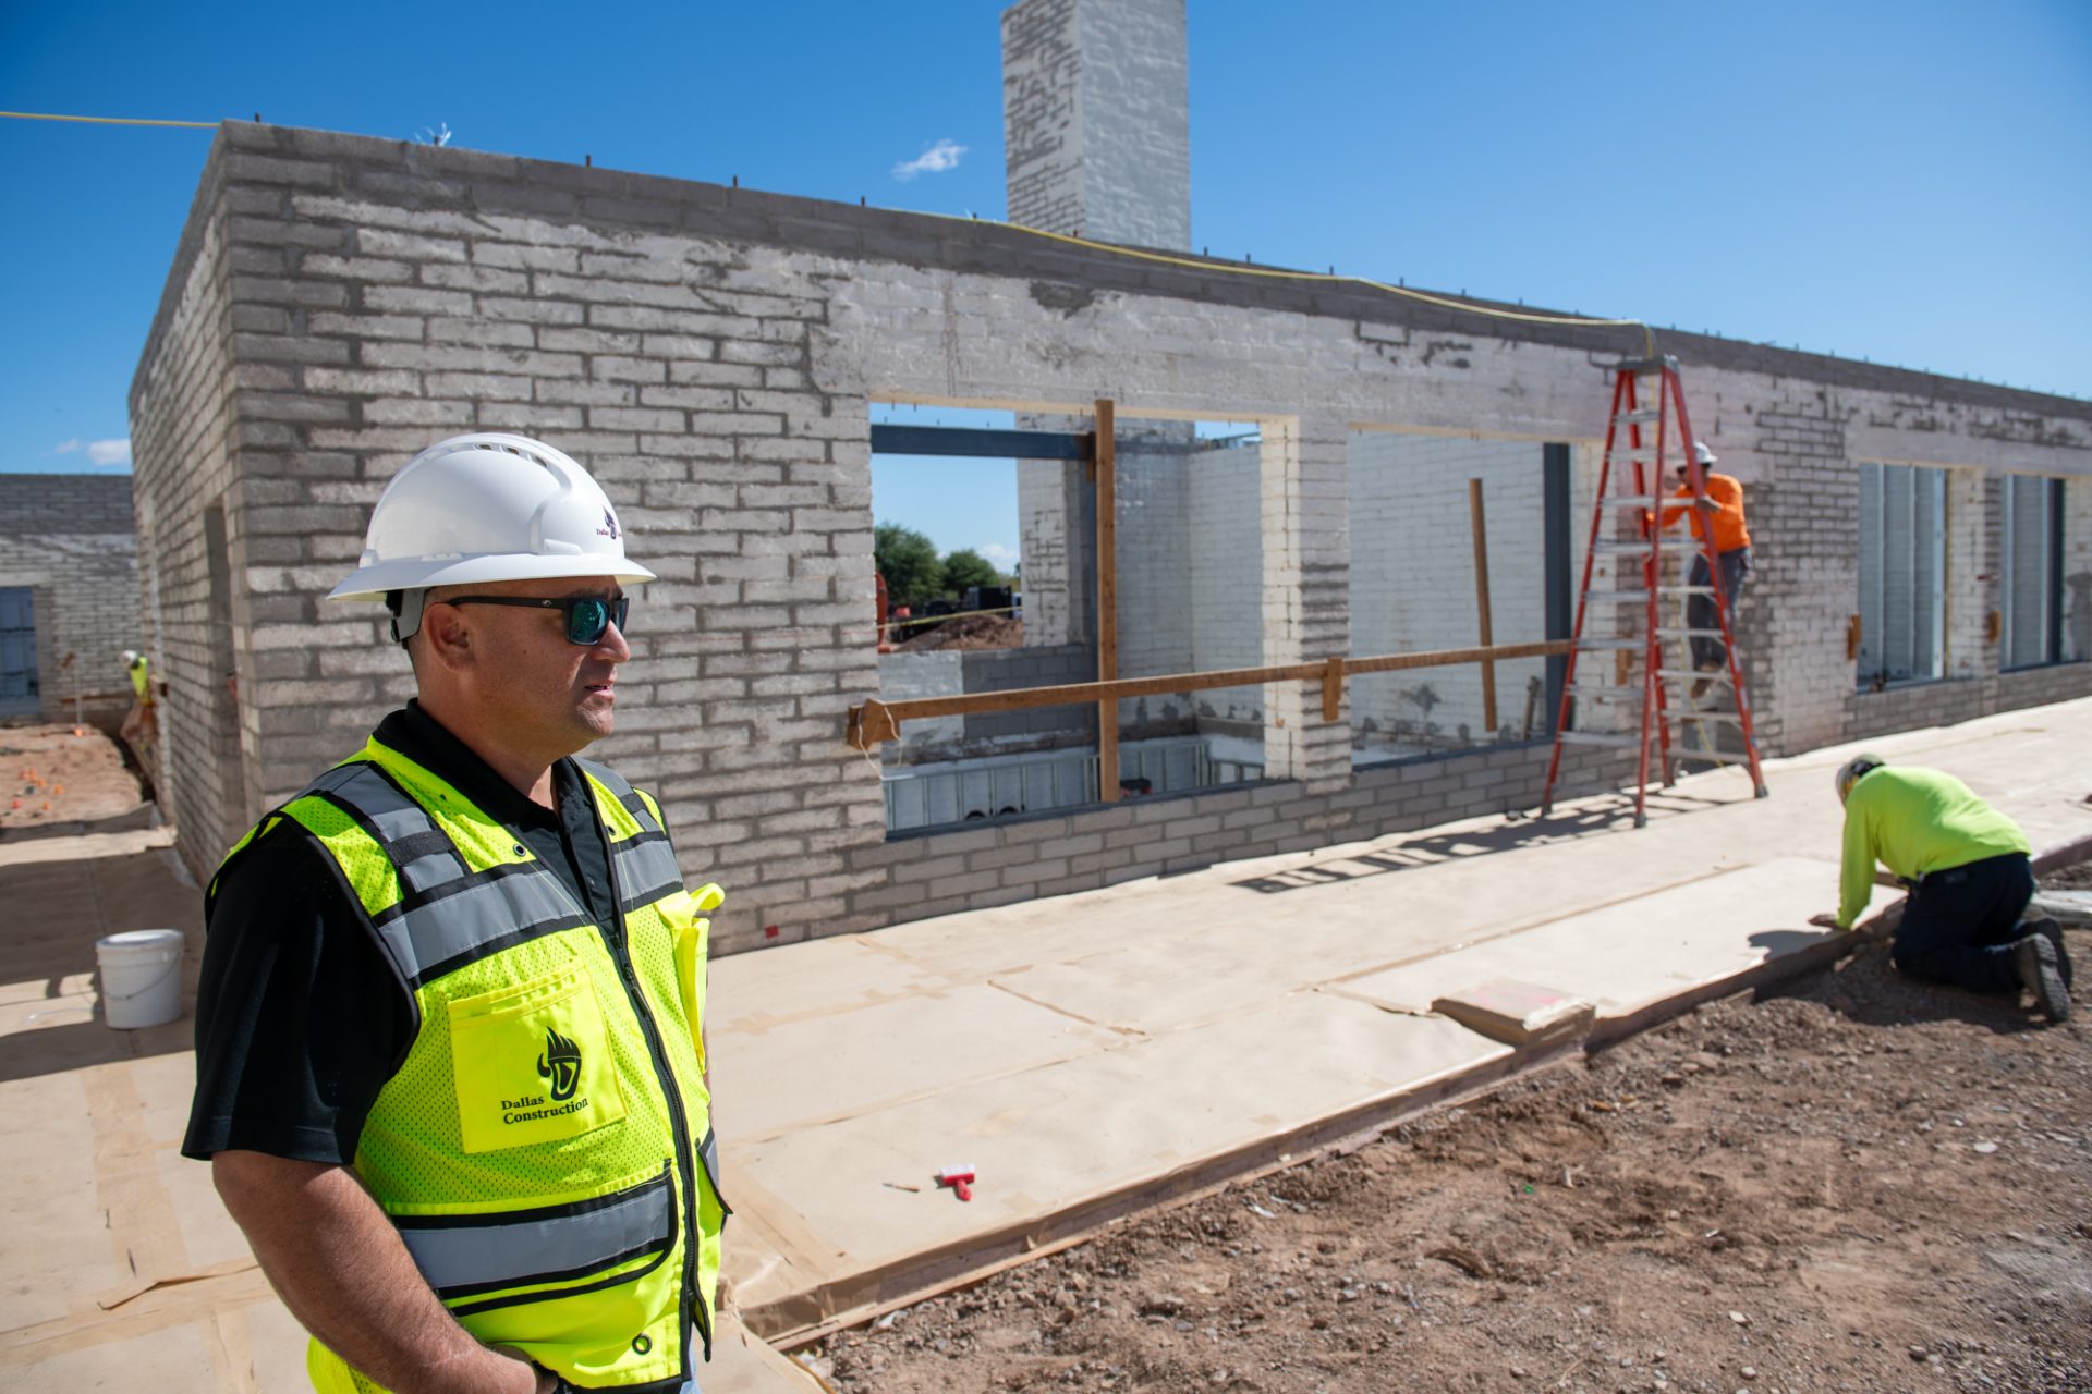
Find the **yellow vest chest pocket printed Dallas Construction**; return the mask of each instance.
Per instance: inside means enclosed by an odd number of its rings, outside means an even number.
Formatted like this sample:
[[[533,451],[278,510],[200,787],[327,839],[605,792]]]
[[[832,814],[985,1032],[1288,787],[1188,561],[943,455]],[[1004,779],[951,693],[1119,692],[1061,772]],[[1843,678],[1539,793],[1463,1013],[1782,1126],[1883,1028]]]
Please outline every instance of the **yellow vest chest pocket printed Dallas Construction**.
[[[448,1003],[464,1152],[577,1137],[626,1116],[588,968]]]

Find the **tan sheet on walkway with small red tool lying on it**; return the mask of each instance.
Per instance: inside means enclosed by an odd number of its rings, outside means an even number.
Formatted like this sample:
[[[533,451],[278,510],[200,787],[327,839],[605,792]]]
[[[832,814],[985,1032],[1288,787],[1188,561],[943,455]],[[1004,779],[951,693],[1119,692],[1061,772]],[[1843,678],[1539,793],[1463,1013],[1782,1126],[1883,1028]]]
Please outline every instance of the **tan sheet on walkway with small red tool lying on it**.
[[[1295,995],[831,1126],[728,1143],[726,1191],[778,1250],[728,1246],[734,1294],[743,1310],[816,1294],[805,1315],[818,1319],[818,1306],[866,1300],[881,1269],[1044,1233],[1052,1216],[1100,1198],[1508,1053],[1443,1018]],[[939,1166],[964,1162],[981,1177],[971,1204],[931,1183]],[[736,1191],[741,1179],[749,1185]]]

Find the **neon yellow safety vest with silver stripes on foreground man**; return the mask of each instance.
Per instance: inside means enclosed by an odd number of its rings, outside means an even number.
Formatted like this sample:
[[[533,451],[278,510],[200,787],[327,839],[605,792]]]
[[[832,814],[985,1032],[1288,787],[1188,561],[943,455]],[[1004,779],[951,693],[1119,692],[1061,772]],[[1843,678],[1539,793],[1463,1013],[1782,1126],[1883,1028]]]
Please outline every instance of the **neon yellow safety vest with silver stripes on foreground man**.
[[[703,913],[722,892],[688,895],[659,805],[577,763],[619,926],[594,924],[500,821],[377,740],[226,865],[299,823],[412,991],[414,1041],[364,1122],[356,1175],[458,1323],[582,1388],[680,1390],[695,1346],[711,1356],[730,1214],[699,1035]],[[308,1371],[322,1394],[379,1390],[318,1340]]]

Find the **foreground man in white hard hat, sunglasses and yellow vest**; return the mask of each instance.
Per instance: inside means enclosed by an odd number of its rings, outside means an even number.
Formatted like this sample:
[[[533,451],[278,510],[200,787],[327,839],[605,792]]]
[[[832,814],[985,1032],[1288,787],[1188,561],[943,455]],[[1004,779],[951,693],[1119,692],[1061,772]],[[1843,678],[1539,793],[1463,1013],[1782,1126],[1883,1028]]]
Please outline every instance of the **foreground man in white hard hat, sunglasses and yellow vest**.
[[[651,579],[561,451],[414,456],[331,598],[385,600],[418,696],[211,880],[182,1152],[322,1394],[688,1392],[711,1354],[720,895],[575,759]]]

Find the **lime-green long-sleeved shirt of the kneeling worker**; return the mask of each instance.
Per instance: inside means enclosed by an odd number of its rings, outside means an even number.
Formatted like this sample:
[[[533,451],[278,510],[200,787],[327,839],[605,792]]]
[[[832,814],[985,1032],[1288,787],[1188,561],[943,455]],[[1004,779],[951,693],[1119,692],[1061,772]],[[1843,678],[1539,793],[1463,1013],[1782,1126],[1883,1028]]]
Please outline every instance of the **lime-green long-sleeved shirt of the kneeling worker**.
[[[1985,857],[2027,853],[2019,823],[1937,769],[1881,765],[1845,794],[1845,857],[1839,928],[1849,930],[1874,892],[1874,861],[1891,876],[1923,880]]]

